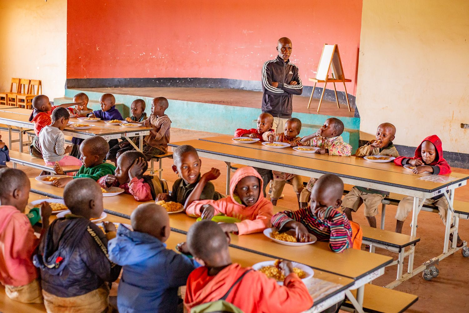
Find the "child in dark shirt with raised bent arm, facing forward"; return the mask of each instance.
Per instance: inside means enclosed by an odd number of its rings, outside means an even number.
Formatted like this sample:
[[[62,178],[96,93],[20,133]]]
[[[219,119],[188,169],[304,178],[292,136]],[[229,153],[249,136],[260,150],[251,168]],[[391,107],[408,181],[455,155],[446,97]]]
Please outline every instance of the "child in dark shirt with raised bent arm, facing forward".
[[[210,175],[214,170],[200,176],[200,167],[202,160],[199,159],[196,149],[190,145],[181,145],[173,150],[173,170],[181,178],[177,179],[173,184],[173,192],[171,196],[168,193],[160,193],[156,201],[174,201],[185,205],[189,195],[196,189],[196,200],[218,200],[223,196],[215,191],[215,186],[210,182],[218,178],[218,175]],[[217,174],[217,173],[215,173]]]

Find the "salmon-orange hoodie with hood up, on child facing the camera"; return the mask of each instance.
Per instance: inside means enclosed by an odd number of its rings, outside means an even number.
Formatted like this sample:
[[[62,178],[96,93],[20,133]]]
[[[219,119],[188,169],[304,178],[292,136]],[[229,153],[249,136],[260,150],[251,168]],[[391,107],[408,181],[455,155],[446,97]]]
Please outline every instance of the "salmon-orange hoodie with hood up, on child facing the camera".
[[[238,235],[261,232],[270,227],[270,220],[273,215],[272,203],[264,198],[263,192],[260,190],[259,198],[253,206],[245,206],[233,197],[234,187],[246,176],[256,176],[259,178],[259,190],[262,187],[262,177],[254,168],[250,166],[238,168],[230,181],[230,197],[219,200],[199,200],[192,202],[186,209],[189,216],[201,216],[202,206],[210,204],[215,208],[215,215],[222,213],[227,216],[235,217],[242,220],[235,223],[238,226]]]

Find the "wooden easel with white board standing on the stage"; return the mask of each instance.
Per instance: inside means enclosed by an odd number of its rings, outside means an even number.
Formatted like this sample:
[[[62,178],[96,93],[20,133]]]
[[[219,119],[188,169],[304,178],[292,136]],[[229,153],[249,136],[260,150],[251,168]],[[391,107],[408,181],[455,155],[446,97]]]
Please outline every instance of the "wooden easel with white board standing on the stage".
[[[332,77],[329,77],[329,69],[332,65]],[[334,84],[335,100],[337,101],[337,107],[339,107],[339,98],[337,97],[337,90],[335,89],[335,83],[342,82],[345,89],[345,98],[347,99],[348,112],[350,112],[350,103],[348,102],[347,87],[345,83],[349,83],[352,80],[346,79],[342,68],[342,61],[340,61],[339,46],[338,45],[324,45],[321,59],[319,59],[318,71],[316,72],[316,78],[310,78],[311,82],[314,82],[313,92],[311,92],[310,102],[308,102],[308,108],[310,108],[311,99],[313,99],[314,90],[316,89],[317,83],[325,83],[323,92],[321,93],[321,99],[319,99],[318,112],[321,108],[322,99],[324,97],[325,86],[327,83]]]

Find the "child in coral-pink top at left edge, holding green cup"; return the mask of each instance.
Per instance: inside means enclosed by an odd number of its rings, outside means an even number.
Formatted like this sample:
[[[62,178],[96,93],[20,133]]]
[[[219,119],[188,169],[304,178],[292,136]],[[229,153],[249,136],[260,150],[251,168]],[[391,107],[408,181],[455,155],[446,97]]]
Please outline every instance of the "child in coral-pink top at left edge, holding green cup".
[[[42,303],[38,272],[31,257],[39,240],[24,215],[30,181],[15,168],[0,169],[0,282],[8,298],[24,303]],[[49,227],[52,208],[43,202],[41,237]]]

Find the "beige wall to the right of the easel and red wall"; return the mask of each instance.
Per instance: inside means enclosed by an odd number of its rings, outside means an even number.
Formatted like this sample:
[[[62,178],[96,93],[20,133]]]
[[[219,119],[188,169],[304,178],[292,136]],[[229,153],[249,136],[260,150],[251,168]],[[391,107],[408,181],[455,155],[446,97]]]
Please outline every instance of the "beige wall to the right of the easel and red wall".
[[[388,121],[398,145],[469,153],[469,1],[363,0],[357,83],[361,139]]]

